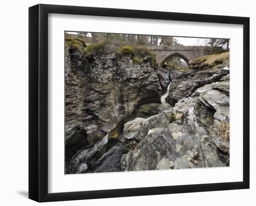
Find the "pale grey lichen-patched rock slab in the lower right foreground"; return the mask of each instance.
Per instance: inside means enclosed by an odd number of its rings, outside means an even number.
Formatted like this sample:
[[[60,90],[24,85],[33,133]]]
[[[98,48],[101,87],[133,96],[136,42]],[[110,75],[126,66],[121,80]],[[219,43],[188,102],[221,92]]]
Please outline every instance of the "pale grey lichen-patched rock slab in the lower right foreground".
[[[229,82],[205,85],[172,110],[127,122],[122,170],[229,166],[229,141],[218,128],[229,122],[228,91]]]

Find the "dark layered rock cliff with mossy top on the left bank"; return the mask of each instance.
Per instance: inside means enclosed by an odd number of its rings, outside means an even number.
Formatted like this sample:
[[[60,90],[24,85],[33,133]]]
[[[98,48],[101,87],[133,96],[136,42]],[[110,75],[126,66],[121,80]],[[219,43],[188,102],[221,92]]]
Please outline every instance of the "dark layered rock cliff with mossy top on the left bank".
[[[99,140],[136,107],[161,103],[157,67],[150,58],[134,64],[112,47],[90,55],[66,51],[66,139],[83,130],[89,142]]]

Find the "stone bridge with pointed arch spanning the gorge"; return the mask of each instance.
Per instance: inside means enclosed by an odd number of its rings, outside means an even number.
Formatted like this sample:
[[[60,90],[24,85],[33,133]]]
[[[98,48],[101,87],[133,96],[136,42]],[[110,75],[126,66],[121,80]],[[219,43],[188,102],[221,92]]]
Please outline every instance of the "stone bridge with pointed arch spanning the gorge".
[[[147,48],[151,52],[155,53],[158,64],[162,66],[168,58],[178,56],[181,57],[189,65],[189,60],[193,60],[197,57],[209,55],[210,47],[208,46],[183,46],[183,45],[171,45],[171,46],[140,46]],[[214,47],[215,53],[222,53],[222,47]]]

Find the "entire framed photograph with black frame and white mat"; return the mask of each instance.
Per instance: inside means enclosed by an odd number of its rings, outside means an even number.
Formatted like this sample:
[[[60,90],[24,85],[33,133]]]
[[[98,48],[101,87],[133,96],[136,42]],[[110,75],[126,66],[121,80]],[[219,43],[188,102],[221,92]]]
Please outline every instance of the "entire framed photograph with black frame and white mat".
[[[249,18],[29,8],[29,198],[249,188]]]

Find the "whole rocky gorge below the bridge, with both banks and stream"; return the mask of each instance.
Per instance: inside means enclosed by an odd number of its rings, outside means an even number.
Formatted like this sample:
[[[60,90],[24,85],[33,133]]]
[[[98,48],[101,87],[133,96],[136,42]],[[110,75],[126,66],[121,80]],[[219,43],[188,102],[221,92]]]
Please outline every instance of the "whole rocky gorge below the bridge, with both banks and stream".
[[[229,166],[229,53],[189,64],[66,39],[66,173]]]

